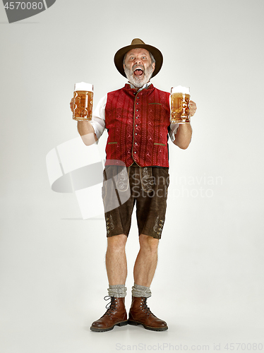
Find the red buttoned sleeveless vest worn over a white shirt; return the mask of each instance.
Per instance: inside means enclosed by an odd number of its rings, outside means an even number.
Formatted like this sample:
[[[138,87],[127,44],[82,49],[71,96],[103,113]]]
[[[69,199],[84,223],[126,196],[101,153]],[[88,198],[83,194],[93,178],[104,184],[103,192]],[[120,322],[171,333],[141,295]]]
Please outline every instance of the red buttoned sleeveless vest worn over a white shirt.
[[[140,92],[128,84],[109,92],[105,107],[105,127],[109,134],[105,164],[119,160],[126,167],[134,161],[140,167],[169,167],[169,114],[169,93],[157,90],[152,84]]]

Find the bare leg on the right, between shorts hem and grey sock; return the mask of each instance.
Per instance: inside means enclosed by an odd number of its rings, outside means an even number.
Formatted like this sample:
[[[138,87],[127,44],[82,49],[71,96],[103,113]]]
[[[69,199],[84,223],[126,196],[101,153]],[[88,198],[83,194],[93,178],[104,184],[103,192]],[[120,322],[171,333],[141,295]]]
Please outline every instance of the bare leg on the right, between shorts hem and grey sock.
[[[159,239],[145,234],[139,236],[140,251],[134,265],[134,282],[150,287],[157,267],[157,246]]]

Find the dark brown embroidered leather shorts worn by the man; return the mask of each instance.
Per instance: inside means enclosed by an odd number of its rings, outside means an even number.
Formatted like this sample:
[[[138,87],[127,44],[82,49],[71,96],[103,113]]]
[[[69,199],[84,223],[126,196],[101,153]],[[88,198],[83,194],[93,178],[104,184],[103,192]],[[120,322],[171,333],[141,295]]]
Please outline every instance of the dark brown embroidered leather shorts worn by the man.
[[[138,235],[160,239],[165,221],[168,186],[168,168],[106,166],[102,198],[107,237],[119,234],[128,236],[136,205]]]

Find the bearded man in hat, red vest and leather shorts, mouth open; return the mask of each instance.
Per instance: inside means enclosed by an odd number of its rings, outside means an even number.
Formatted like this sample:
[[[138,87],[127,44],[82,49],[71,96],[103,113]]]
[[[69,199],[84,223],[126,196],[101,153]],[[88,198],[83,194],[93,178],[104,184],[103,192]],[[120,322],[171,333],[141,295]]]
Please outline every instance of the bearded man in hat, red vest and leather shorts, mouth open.
[[[86,145],[100,138],[104,128],[109,133],[103,198],[111,303],[106,313],[92,323],[92,331],[104,332],[115,325],[126,324],[142,324],[145,329],[155,331],[168,328],[165,321],[150,311],[146,300],[151,296],[150,285],[165,219],[169,185],[168,133],[175,145],[186,149],[192,130],[188,123],[170,124],[169,93],[157,90],[150,83],[150,78],[160,71],[162,61],[159,49],[139,39],[119,49],[114,63],[128,78],[128,83],[100,100],[91,122],[78,121],[78,132]],[[195,112],[196,104],[191,101],[190,116]],[[128,192],[128,197],[124,198],[124,191]],[[119,203],[114,205],[116,197]],[[132,303],[127,319],[125,246],[135,204],[140,251],[133,269]]]

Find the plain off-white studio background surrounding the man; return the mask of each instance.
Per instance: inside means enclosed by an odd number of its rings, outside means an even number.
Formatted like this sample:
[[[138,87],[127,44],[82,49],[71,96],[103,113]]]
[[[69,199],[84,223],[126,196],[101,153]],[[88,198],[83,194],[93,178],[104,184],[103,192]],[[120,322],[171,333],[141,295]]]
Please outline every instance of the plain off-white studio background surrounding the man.
[[[0,4],[1,352],[264,350],[263,11],[263,0],[57,0],[8,24]],[[164,55],[153,84],[187,85],[198,105],[188,150],[169,145],[167,219],[148,300],[169,330],[92,333],[108,287],[104,220],[82,220],[73,193],[51,190],[45,158],[78,136],[74,83],[92,83],[95,104],[121,88],[114,54],[134,37]]]

